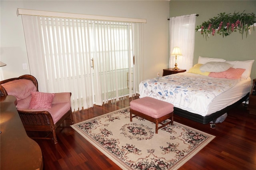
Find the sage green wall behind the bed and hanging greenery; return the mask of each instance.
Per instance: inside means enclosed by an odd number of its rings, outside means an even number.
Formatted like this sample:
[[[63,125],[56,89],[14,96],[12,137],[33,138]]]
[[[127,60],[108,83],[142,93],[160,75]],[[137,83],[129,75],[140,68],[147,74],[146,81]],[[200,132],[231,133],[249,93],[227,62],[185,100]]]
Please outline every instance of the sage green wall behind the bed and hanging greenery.
[[[256,13],[256,1],[194,1],[194,0],[171,0],[170,17],[182,16],[186,14],[199,14],[196,17],[196,26],[207,21],[209,18],[217,16],[220,12],[233,13],[243,12]],[[224,58],[226,60],[255,60],[252,65],[251,78],[256,78],[256,27],[247,38],[238,32],[233,32],[230,36],[222,38],[216,34],[207,40],[200,32],[195,33],[194,64],[198,57]]]

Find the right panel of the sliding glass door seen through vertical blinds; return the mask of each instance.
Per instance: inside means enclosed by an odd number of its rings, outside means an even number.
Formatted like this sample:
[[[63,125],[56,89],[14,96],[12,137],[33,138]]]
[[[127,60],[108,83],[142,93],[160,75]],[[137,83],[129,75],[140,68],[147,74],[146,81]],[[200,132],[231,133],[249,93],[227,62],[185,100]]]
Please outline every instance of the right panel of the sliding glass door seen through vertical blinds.
[[[94,92],[98,105],[129,95],[133,81],[133,30],[131,23],[94,22]],[[131,86],[131,87],[130,87]]]

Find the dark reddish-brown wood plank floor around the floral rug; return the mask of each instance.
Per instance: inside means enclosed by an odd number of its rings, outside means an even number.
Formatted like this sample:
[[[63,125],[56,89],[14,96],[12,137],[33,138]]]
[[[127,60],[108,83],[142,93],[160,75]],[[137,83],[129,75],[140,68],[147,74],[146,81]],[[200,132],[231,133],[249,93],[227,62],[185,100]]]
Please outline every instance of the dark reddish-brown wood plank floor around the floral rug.
[[[74,123],[129,106],[126,99],[115,104],[94,106],[73,114]],[[242,104],[230,112],[216,128],[174,115],[174,121],[216,136],[186,162],[180,170],[256,170],[256,115]],[[114,162],[87,142],[65,120],[57,130],[58,144],[36,140],[41,147],[45,170],[118,170]]]

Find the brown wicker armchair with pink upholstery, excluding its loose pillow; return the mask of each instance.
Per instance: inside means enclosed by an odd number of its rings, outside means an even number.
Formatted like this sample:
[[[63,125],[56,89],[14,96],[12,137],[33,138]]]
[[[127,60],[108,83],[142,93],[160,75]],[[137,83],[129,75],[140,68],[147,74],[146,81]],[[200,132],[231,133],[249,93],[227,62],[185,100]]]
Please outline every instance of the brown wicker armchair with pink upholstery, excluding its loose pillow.
[[[30,81],[33,83],[31,83]],[[17,110],[26,131],[52,132],[53,138],[31,137],[36,139],[53,139],[57,144],[56,128],[65,119],[70,119],[73,124],[70,92],[54,93],[51,108],[30,109],[31,92],[38,92],[38,82],[34,76],[23,75],[0,82],[1,96],[13,95],[17,99]],[[28,86],[28,87],[27,87]]]

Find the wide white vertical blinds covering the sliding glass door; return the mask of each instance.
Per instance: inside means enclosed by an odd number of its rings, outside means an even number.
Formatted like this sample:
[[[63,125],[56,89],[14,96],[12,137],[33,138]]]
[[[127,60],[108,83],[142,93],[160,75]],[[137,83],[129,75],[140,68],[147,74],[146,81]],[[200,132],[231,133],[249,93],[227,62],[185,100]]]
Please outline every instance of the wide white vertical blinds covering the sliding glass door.
[[[136,93],[143,23],[32,15],[22,15],[22,22],[39,91],[72,92],[73,110]]]

